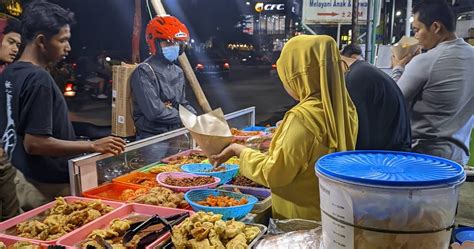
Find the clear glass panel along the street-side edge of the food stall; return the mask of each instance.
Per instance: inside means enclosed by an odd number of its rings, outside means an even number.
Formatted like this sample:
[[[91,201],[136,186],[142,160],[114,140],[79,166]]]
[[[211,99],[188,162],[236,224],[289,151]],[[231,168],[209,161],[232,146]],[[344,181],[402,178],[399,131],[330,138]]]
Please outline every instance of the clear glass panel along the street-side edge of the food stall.
[[[255,107],[225,115],[230,127],[242,129],[255,125]],[[184,150],[195,149],[191,134],[186,128],[170,131],[127,144],[124,153],[89,154],[69,160],[71,194],[97,187],[113,178],[147,165],[159,163],[161,159]]]

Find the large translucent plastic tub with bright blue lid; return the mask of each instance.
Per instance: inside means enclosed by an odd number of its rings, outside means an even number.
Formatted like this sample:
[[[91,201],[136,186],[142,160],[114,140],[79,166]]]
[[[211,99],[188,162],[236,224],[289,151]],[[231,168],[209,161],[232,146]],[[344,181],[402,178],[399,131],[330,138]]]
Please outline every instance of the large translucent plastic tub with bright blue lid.
[[[446,249],[466,176],[446,159],[353,151],[316,163],[324,249]]]

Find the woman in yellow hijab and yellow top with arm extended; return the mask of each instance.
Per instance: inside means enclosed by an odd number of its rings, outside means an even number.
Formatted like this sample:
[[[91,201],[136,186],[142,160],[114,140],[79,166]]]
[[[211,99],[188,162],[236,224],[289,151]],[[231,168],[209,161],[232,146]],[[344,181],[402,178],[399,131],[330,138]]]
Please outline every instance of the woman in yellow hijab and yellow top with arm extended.
[[[299,104],[285,114],[268,155],[231,144],[211,160],[220,164],[239,156],[240,174],[271,189],[274,218],[321,220],[314,164],[326,154],[353,150],[358,127],[336,42],[329,36],[294,37],[277,70]]]

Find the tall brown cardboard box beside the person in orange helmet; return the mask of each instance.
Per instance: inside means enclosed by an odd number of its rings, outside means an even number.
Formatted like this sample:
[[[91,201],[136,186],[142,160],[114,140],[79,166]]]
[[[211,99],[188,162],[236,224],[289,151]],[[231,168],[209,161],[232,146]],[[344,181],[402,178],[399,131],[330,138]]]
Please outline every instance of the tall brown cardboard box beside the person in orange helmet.
[[[136,65],[122,64],[112,67],[112,135],[135,135],[133,122],[130,75]]]

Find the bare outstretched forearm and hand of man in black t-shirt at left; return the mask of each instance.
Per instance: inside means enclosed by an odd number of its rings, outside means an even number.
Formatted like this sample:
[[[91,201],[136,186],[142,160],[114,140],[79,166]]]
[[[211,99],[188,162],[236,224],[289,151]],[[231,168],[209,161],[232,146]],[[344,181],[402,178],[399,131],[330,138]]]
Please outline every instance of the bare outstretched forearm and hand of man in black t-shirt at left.
[[[125,141],[118,137],[105,137],[96,141],[67,141],[27,133],[23,146],[30,155],[63,157],[93,152],[118,155],[125,150]]]

